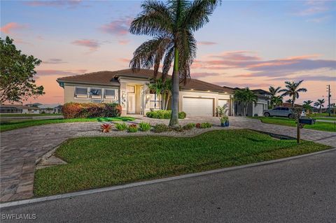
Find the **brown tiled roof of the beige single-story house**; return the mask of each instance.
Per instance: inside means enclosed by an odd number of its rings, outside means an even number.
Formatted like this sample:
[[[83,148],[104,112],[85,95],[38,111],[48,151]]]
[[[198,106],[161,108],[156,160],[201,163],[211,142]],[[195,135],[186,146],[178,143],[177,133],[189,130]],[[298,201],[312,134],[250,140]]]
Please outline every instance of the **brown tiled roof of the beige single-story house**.
[[[82,75],[73,75],[64,78],[58,78],[57,82],[75,82],[75,83],[88,83],[88,84],[100,84],[100,85],[116,85],[119,86],[118,78],[120,76],[126,76],[131,78],[153,78],[153,70],[139,69],[139,71],[133,71],[132,69],[125,69],[120,71],[99,71],[94,73],[85,73]],[[158,77],[162,75],[158,73]],[[168,75],[168,78],[172,78]],[[233,89],[230,87],[221,87],[202,80],[188,78],[186,84],[181,82],[180,87],[182,89],[198,89],[214,92],[227,92],[233,93]]]

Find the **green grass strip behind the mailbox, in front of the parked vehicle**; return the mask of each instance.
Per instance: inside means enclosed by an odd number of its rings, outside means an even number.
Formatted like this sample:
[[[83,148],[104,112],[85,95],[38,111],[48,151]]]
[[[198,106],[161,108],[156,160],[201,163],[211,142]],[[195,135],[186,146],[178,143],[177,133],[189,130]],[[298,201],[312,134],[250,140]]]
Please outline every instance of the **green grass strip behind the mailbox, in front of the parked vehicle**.
[[[295,120],[288,117],[250,117],[253,119],[261,120],[261,122],[268,124],[279,124],[288,127],[296,127]],[[336,131],[336,124],[332,122],[315,122],[315,124],[305,124],[304,129],[314,129],[320,131]]]

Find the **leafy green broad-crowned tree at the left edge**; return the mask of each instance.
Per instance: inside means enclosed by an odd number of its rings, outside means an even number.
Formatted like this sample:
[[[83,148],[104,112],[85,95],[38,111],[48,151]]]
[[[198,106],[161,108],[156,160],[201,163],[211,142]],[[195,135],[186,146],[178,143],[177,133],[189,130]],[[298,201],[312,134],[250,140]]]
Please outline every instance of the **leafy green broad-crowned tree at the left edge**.
[[[36,86],[34,75],[35,66],[41,60],[27,56],[17,50],[13,39],[0,38],[0,103],[5,101],[22,102],[29,97],[42,94],[43,86]]]

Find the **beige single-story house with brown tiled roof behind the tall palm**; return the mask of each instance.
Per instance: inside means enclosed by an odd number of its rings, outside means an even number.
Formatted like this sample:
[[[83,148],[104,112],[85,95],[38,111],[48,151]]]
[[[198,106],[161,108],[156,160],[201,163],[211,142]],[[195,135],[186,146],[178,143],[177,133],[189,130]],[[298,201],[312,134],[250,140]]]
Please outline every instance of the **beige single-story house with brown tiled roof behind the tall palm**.
[[[160,77],[161,73],[158,74]],[[123,107],[123,115],[145,114],[160,109],[161,97],[148,89],[153,70],[132,69],[100,71],[58,78],[64,88],[64,103],[113,103]],[[168,78],[172,78],[170,75]],[[216,107],[228,104],[228,114],[233,115],[234,90],[188,78],[180,84],[179,111],[188,116],[214,116]]]

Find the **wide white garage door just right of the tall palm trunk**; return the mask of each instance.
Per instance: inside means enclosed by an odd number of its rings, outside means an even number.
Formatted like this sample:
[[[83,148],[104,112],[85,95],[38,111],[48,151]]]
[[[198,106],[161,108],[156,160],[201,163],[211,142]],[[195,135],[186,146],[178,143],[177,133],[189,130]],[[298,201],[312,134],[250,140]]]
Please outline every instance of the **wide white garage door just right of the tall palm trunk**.
[[[183,98],[182,110],[188,116],[213,116],[214,99]]]

